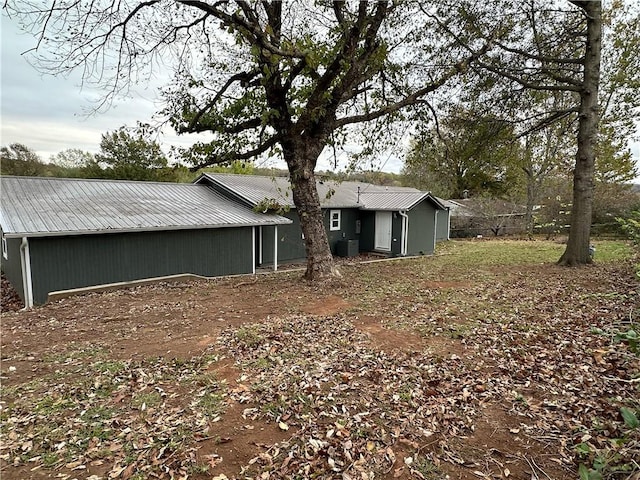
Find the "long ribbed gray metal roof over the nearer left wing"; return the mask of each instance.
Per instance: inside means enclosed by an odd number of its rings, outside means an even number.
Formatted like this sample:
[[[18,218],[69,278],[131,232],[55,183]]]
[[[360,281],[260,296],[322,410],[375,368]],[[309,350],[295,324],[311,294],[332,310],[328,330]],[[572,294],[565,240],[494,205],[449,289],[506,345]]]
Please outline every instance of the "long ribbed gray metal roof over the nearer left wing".
[[[291,223],[206,185],[3,176],[0,187],[0,227],[7,237]]]

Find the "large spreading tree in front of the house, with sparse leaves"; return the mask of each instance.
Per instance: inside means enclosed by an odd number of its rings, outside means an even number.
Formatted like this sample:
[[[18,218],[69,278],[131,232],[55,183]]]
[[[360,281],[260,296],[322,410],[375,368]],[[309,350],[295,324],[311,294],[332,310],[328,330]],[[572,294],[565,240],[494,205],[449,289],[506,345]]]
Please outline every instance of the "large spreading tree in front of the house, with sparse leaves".
[[[111,93],[176,54],[165,113],[178,132],[212,136],[191,149],[194,168],[283,158],[312,280],[336,272],[315,179],[325,147],[357,139],[373,152],[394,142],[406,126],[392,122],[407,120],[410,107],[426,109],[490,45],[471,41],[455,5],[409,1],[60,0],[33,9],[9,0],[4,8],[38,35],[41,68],[84,66],[95,73],[85,80]],[[441,25],[469,42],[460,47]]]

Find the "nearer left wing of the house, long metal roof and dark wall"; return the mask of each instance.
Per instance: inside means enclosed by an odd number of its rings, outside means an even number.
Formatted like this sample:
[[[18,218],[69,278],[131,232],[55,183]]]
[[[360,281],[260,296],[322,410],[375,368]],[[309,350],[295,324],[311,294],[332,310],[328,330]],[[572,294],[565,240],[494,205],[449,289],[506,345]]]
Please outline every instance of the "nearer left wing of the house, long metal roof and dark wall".
[[[27,307],[96,285],[250,274],[268,241],[257,232],[277,244],[291,223],[202,183],[3,176],[0,188],[2,271]]]

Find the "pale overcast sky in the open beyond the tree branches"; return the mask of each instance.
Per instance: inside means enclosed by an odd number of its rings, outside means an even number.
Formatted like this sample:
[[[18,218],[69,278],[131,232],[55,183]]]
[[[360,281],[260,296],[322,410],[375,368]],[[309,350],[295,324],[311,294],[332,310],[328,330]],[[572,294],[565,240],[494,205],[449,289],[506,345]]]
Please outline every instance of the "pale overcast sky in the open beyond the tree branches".
[[[1,20],[0,145],[22,143],[48,161],[68,148],[96,153],[103,133],[124,125],[133,127],[138,121],[152,123],[161,105],[157,92],[144,87],[105,113],[87,115],[100,92],[83,89],[77,73],[70,77],[38,73],[21,55],[34,46],[34,38],[21,33],[5,16]],[[166,151],[170,145],[186,146],[195,140],[165,134],[160,141]],[[632,152],[640,165],[640,143],[632,145]],[[386,156],[380,159],[381,169],[399,172],[402,162]],[[329,168],[329,163],[323,162],[319,168]]]

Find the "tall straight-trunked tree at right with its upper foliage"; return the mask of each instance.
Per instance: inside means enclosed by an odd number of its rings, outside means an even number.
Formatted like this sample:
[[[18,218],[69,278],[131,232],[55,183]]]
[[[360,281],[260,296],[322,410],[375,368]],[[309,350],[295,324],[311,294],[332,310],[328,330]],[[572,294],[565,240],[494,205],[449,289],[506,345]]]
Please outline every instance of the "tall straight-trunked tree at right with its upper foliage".
[[[628,23],[629,19],[637,19],[637,2],[613,2],[612,8],[620,7],[624,12],[617,17],[609,15],[606,10],[603,13],[600,1],[571,0],[565,3],[507,0],[501,3],[501,7],[504,16],[500,19],[506,19],[509,33],[496,42],[497,48],[487,58],[476,64],[482,68],[482,71],[476,72],[482,77],[477,82],[484,86],[491,83],[492,89],[500,92],[499,98],[509,105],[516,105],[515,108],[505,109],[514,119],[518,118],[514,113],[521,111],[521,135],[545,129],[558,121],[568,120],[575,125],[571,229],[559,263],[590,263],[589,239],[598,127],[604,112],[602,94],[607,91],[604,88],[607,76],[603,72],[611,69],[606,62],[608,55],[605,55],[605,63],[601,68],[602,51],[637,50],[637,37],[630,34],[633,29],[615,35],[617,20],[624,19]],[[478,32],[484,29],[491,32],[495,26],[495,18],[476,20]],[[483,34],[479,33],[479,36]],[[627,55],[622,58],[621,65],[630,61],[631,56]],[[615,76],[617,87],[624,85],[625,88],[620,90],[616,87],[612,90],[622,92],[618,97],[621,99],[625,98],[624,92],[633,90],[632,79],[637,75],[637,69],[625,71],[626,76]],[[490,80],[484,78],[486,74],[491,77]],[[564,100],[556,104],[557,108],[546,108],[547,102],[539,103],[533,109],[517,108],[520,97],[535,92],[561,95]],[[627,98],[633,103],[632,97]]]

